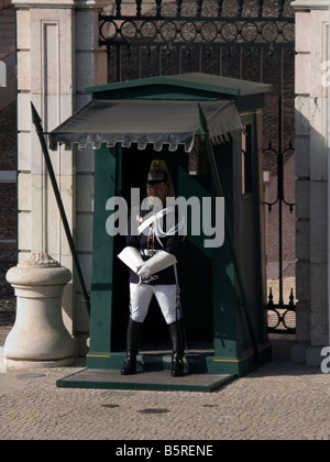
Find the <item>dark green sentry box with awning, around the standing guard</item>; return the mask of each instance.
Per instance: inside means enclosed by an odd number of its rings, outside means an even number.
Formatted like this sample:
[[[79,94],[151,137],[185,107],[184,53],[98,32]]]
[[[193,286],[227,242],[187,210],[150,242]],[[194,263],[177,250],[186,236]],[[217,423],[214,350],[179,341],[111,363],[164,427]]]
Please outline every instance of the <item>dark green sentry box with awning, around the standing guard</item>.
[[[166,161],[176,197],[187,201],[177,268],[189,372],[240,376],[270,360],[261,168],[270,90],[200,73],[89,87],[91,101],[51,133],[53,150],[58,143],[78,145],[78,155],[88,144],[95,148],[88,369],[119,373],[124,359],[129,270],[117,257],[125,237],[107,229],[114,212],[109,199],[120,194],[130,206],[134,188],[142,200],[155,158]],[[196,216],[191,224],[196,204],[200,227]],[[202,207],[210,204],[207,216]],[[154,301],[139,369],[166,370],[168,358],[167,328]]]

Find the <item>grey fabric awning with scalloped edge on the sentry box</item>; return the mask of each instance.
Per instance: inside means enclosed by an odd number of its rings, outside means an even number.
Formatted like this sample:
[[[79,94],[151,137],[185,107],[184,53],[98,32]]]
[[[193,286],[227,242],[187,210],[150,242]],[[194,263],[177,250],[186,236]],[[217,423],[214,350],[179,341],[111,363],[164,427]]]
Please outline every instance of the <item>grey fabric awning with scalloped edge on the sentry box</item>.
[[[241,119],[233,100],[174,101],[174,100],[91,100],[50,134],[52,150],[58,144],[79,150],[87,144],[99,148],[121,143],[130,147],[136,143],[140,150],[152,144],[155,151],[164,145],[176,151],[179,145],[190,152],[195,135],[201,131],[200,105],[208,121],[213,144],[227,142],[242,132]]]

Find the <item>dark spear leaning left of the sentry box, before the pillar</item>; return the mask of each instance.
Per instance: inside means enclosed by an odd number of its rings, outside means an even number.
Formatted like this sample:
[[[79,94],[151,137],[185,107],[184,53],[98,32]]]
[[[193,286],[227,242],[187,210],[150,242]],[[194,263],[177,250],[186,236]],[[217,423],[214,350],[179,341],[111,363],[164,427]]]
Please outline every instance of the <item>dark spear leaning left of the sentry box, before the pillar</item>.
[[[50,157],[48,148],[46,146],[46,142],[45,142],[45,139],[44,139],[44,131],[43,131],[43,127],[42,127],[42,121],[41,121],[41,118],[40,118],[35,107],[34,107],[33,102],[31,102],[31,110],[32,110],[32,121],[34,123],[35,131],[36,131],[36,134],[38,136],[40,143],[41,143],[41,146],[42,146],[42,151],[43,151],[43,154],[44,154],[44,158],[45,158],[46,167],[47,167],[47,170],[48,170],[50,179],[51,179],[51,183],[52,183],[52,186],[53,186],[55,199],[56,199],[57,207],[58,207],[58,210],[59,210],[62,223],[63,223],[64,231],[65,231],[68,244],[69,244],[69,249],[72,251],[72,255],[73,255],[73,260],[74,260],[74,263],[75,263],[75,266],[76,266],[77,275],[78,275],[78,278],[79,278],[79,282],[80,282],[80,286],[81,286],[81,290],[82,290],[82,295],[84,295],[82,301],[86,304],[88,315],[90,315],[89,295],[87,293],[87,288],[86,288],[86,284],[85,284],[85,280],[84,280],[84,276],[82,276],[80,263],[79,263],[79,260],[78,260],[77,251],[76,251],[76,248],[75,248],[74,239],[73,239],[72,233],[70,233],[69,224],[68,224],[68,221],[67,221],[67,218],[66,218],[66,215],[65,215],[62,197],[61,197],[59,189],[58,189],[58,186],[57,186],[57,183],[56,183],[56,178],[55,178],[52,161],[51,161],[51,157]]]

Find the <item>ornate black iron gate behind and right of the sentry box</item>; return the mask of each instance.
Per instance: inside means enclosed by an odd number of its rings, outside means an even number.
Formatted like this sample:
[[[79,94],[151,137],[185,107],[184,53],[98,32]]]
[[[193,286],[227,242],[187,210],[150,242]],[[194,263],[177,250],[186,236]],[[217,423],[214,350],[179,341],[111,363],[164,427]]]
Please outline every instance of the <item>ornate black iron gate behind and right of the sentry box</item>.
[[[284,175],[294,158],[295,15],[290,0],[135,0],[135,4],[116,0],[109,8],[109,14],[100,15],[109,82],[202,72],[274,86],[263,117],[263,164],[273,178],[265,202],[271,212],[267,254],[278,283],[276,295],[270,287],[268,324],[270,331],[294,332],[293,288],[284,301],[285,266],[295,260],[294,189],[286,180],[288,176],[293,185],[294,172]],[[287,227],[289,242],[284,239]]]

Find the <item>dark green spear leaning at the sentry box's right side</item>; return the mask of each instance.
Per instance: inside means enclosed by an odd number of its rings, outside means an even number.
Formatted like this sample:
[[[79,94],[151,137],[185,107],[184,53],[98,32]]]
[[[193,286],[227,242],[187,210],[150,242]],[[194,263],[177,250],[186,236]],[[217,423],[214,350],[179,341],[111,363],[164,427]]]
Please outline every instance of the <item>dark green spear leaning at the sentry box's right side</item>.
[[[200,123],[200,127],[201,127],[201,133],[200,134],[205,139],[206,151],[207,151],[208,160],[209,160],[210,167],[211,167],[211,170],[212,170],[216,191],[217,191],[219,197],[223,197],[223,190],[222,190],[222,186],[221,186],[221,182],[220,182],[220,177],[219,177],[219,173],[218,173],[218,167],[217,167],[217,163],[216,163],[216,158],[215,158],[213,147],[212,147],[212,144],[211,144],[211,141],[210,141],[208,122],[207,122],[205,113],[204,113],[204,111],[200,107],[200,103],[198,103],[198,110],[199,110],[199,123]],[[242,274],[241,274],[241,268],[240,268],[240,265],[239,265],[239,258],[238,258],[237,250],[235,250],[235,246],[234,246],[234,240],[233,240],[233,235],[232,235],[232,232],[231,232],[231,226],[230,226],[228,212],[227,212],[226,209],[224,209],[224,229],[226,229],[226,235],[228,237],[228,242],[229,242],[230,252],[231,252],[232,260],[233,260],[233,265],[234,265],[234,268],[235,268],[237,279],[238,279],[241,296],[242,296],[242,299],[243,299],[243,309],[244,309],[246,324],[248,324],[248,329],[249,329],[249,333],[250,333],[250,338],[251,338],[251,343],[252,343],[252,346],[253,346],[254,356],[257,361],[257,359],[258,359],[257,342],[256,342],[256,339],[255,339],[255,332],[254,332],[254,328],[253,328],[253,323],[252,323],[252,319],[251,319],[251,315],[250,315],[250,306],[249,306],[249,302],[248,302],[248,297],[246,297],[246,293],[245,293],[245,288],[244,288],[243,277],[242,277]]]

